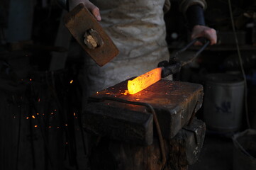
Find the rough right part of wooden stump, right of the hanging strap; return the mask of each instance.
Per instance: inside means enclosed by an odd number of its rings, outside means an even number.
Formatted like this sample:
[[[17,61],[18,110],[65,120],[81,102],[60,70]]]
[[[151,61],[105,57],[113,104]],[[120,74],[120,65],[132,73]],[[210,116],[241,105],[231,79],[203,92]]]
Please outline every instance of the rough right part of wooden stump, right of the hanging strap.
[[[169,169],[187,169],[188,165],[194,164],[199,159],[205,133],[206,124],[195,118],[191,125],[185,126],[172,140],[167,141]]]

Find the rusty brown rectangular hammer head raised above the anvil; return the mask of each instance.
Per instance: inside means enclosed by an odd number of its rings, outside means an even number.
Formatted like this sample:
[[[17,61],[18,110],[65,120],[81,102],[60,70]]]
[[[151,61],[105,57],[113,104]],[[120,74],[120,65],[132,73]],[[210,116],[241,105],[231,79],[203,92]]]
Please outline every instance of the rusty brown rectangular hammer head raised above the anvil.
[[[65,16],[65,26],[77,42],[79,42],[79,45],[83,47],[87,54],[99,64],[99,66],[103,66],[118,55],[116,45],[113,44],[113,41],[108,37],[99,22],[96,21],[96,18],[91,15],[87,8],[84,8],[84,5],[79,4],[72,11],[67,13]],[[93,50],[89,49],[89,47],[84,44],[84,34],[91,29],[99,33],[104,42]]]

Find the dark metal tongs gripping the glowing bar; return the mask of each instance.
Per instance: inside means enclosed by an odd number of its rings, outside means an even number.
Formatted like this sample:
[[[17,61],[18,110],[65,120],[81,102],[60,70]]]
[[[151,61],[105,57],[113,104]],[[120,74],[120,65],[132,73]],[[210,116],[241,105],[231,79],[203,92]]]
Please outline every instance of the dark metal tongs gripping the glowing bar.
[[[186,51],[197,40],[200,42],[204,42],[204,45],[194,55],[189,57],[189,60],[182,61],[182,62],[177,61],[177,56],[180,55],[182,52]],[[164,78],[169,76],[170,74],[176,74],[180,72],[180,69],[182,68],[182,66],[189,64],[190,62],[195,60],[195,58],[209,45],[209,43],[210,41],[206,40],[206,38],[195,38],[194,40],[191,40],[191,42],[189,42],[181,50],[175,52],[174,55],[171,55],[169,57],[169,62],[165,60],[158,63],[157,67],[164,67],[162,69],[161,77]]]

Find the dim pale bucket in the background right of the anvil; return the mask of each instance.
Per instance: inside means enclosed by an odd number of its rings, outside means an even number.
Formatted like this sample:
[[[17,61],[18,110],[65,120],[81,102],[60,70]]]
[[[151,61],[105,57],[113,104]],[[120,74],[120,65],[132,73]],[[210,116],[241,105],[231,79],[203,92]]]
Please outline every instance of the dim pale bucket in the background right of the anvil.
[[[242,123],[244,81],[235,74],[208,74],[204,88],[207,128],[235,132]]]

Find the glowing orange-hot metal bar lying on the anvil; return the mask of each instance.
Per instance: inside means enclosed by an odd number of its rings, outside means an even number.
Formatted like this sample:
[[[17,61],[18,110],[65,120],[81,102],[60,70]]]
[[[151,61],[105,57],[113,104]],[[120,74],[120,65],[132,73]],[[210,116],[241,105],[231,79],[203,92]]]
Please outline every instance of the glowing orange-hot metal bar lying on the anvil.
[[[128,91],[129,94],[136,94],[143,89],[146,89],[148,86],[155,84],[155,82],[161,79],[162,67],[152,69],[150,72],[147,72],[139,77],[136,77],[133,80],[128,81]]]

